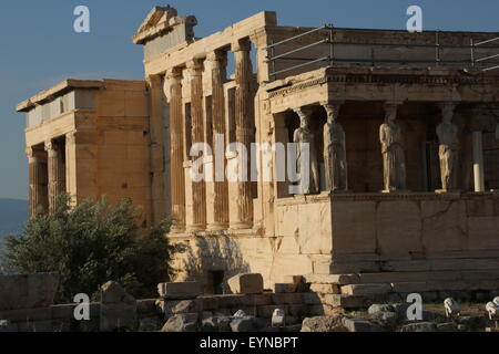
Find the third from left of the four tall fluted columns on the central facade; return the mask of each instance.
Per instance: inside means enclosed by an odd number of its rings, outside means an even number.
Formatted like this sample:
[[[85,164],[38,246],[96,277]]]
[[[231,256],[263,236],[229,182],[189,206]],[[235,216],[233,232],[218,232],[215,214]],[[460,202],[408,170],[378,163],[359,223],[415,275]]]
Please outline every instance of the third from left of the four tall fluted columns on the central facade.
[[[208,220],[208,230],[228,228],[228,186],[225,178],[225,100],[224,82],[226,79],[226,55],[212,52],[207,55],[212,67],[212,119],[213,119],[213,176],[206,188],[212,187],[213,212]]]

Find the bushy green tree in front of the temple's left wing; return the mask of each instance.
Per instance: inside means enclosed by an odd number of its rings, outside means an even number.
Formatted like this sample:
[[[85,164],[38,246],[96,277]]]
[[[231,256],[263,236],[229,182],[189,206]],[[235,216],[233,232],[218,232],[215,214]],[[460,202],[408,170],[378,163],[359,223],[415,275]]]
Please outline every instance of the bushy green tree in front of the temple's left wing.
[[[22,235],[7,237],[3,263],[19,273],[58,272],[58,302],[72,302],[77,293],[95,295],[109,280],[135,298],[155,295],[157,283],[169,279],[170,222],[141,232],[139,216],[129,199],[72,208],[62,195],[53,214],[38,210]]]

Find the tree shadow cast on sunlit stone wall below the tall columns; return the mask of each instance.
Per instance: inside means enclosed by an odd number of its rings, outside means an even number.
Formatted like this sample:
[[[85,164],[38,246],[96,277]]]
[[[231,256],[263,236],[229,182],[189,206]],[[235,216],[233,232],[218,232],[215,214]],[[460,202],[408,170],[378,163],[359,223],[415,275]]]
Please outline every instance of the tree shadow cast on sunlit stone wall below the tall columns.
[[[176,275],[184,281],[198,281],[206,294],[231,293],[227,280],[249,272],[238,243],[228,237],[195,237],[174,249],[174,258],[180,259]]]

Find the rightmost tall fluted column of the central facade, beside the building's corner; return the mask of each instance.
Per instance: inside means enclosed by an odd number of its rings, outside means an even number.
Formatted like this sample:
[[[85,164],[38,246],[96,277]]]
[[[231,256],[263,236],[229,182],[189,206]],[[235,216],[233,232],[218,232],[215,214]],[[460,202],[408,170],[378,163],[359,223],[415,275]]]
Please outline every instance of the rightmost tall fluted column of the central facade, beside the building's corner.
[[[253,142],[254,96],[252,90],[253,66],[249,58],[251,44],[248,40],[240,40],[232,44],[235,56],[235,126],[236,142],[247,152],[245,176],[237,181],[235,219],[231,219],[232,229],[247,229],[253,226],[253,196],[249,180],[249,152]],[[243,166],[241,166],[244,168]]]

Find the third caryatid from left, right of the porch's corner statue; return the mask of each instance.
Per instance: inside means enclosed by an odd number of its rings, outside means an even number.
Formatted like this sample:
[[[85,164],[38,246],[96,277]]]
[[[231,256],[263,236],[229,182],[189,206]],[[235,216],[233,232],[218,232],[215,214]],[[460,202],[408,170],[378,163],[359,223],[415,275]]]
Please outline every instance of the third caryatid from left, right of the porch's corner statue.
[[[381,142],[384,191],[406,189],[406,158],[401,129],[395,123],[397,104],[385,104],[385,123],[379,127]]]

